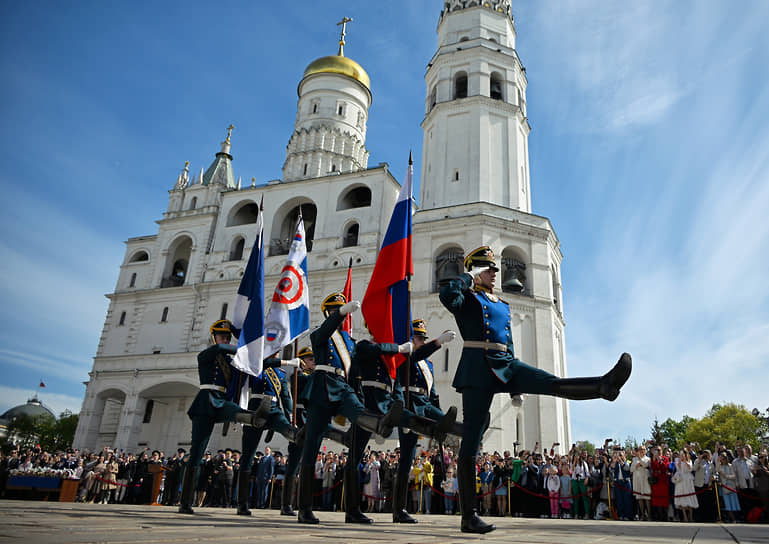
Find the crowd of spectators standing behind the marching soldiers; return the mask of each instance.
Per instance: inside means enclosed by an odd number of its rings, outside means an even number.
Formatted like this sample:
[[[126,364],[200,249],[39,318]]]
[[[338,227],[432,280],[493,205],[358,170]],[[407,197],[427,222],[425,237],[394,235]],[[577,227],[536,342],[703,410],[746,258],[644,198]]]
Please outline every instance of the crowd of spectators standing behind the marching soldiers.
[[[612,445],[589,454],[573,445],[567,454],[543,451],[488,452],[478,455],[478,511],[486,516],[562,517],[656,521],[767,521],[767,450],[716,443],[713,452],[698,444],[672,451],[647,442],[635,448]],[[48,453],[11,449],[0,458],[0,496],[10,475],[44,473],[80,481],[81,502],[178,504],[183,449],[162,451]],[[240,453],[207,452],[196,482],[198,507],[233,507]],[[250,507],[279,508],[287,458],[266,447],[251,472]],[[367,450],[357,467],[362,505],[369,512],[391,512],[399,450]],[[324,450],[315,466],[315,508],[341,510],[347,452]],[[153,467],[153,465],[155,465]],[[159,473],[160,492],[153,496]],[[412,464],[407,508],[411,513],[459,512],[456,456],[449,447],[423,448]]]

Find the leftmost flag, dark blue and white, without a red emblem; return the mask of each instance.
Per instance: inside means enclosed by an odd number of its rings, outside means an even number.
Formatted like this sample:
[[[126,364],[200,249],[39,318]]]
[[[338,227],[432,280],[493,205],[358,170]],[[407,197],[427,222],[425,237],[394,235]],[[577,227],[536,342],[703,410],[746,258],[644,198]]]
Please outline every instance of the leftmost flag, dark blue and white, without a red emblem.
[[[262,373],[264,359],[264,226],[261,209],[256,231],[256,242],[251,248],[232,310],[232,324],[240,329],[238,351],[232,359],[232,366],[253,376]]]

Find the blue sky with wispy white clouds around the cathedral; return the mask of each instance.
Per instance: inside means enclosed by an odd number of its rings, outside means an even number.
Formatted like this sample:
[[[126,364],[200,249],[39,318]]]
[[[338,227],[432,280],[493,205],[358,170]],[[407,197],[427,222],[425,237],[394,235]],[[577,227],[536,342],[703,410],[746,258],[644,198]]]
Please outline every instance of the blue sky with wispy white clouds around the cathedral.
[[[1,3],[0,412],[41,379],[79,410],[123,241],[156,232],[184,161],[207,167],[230,123],[236,175],[280,177],[296,86],[343,15],[372,81],[369,164],[402,177],[441,6]],[[733,6],[513,2],[569,374],[634,357],[615,403],[571,404],[577,440],[769,406],[769,3]]]

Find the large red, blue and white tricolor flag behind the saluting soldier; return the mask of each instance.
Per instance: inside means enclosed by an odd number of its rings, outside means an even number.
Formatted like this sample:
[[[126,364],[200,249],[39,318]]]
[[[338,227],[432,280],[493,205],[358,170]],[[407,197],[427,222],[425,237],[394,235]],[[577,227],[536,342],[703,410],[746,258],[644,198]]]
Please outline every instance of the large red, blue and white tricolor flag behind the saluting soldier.
[[[411,257],[413,177],[414,165],[409,154],[406,180],[395,203],[361,308],[363,318],[377,342],[403,344],[411,338],[409,283],[414,274]],[[402,355],[384,358],[390,376],[395,378],[395,369],[405,358]]]

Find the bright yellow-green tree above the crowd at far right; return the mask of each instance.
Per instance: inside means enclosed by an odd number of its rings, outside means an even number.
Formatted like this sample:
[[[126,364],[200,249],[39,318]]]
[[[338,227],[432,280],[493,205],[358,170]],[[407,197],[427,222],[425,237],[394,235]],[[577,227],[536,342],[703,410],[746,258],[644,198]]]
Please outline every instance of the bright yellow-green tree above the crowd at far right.
[[[750,444],[760,447],[761,420],[741,404],[714,404],[705,417],[693,420],[686,430],[686,440],[713,450],[716,442],[727,447]]]

